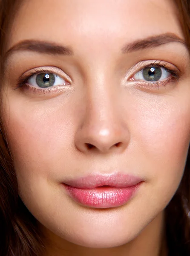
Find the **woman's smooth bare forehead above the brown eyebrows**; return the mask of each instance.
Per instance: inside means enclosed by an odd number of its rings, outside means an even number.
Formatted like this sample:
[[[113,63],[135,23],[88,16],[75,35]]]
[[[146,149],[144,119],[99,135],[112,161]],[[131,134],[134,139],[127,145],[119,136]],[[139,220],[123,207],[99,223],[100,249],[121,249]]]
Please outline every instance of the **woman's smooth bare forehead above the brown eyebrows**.
[[[172,0],[27,0],[14,20],[10,45],[26,39],[74,47],[121,47],[172,32],[183,38]]]

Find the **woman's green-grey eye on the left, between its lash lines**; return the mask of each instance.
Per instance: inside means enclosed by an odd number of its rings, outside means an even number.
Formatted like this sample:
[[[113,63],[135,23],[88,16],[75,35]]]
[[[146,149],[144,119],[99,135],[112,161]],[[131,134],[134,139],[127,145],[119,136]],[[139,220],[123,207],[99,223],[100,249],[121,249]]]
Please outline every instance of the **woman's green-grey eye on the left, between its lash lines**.
[[[26,80],[26,83],[32,85],[33,87],[48,88],[58,85],[65,85],[66,81],[54,73],[46,72],[32,75]]]

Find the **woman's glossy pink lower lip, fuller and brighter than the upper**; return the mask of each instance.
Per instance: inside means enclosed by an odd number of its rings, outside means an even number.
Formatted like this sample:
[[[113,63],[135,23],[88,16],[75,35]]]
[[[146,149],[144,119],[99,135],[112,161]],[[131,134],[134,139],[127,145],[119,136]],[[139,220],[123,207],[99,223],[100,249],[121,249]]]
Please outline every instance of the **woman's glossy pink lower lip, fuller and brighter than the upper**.
[[[127,188],[102,186],[95,189],[78,189],[63,184],[69,195],[78,203],[93,208],[111,208],[126,204],[137,192],[141,182]]]

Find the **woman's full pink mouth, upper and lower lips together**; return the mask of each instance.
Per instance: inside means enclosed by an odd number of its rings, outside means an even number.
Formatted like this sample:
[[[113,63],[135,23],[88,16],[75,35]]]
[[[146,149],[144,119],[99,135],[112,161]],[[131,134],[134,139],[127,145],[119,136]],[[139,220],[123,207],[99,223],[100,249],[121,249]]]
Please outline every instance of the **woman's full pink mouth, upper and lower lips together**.
[[[144,180],[123,173],[91,174],[66,180],[63,186],[79,204],[92,208],[112,208],[126,204]]]

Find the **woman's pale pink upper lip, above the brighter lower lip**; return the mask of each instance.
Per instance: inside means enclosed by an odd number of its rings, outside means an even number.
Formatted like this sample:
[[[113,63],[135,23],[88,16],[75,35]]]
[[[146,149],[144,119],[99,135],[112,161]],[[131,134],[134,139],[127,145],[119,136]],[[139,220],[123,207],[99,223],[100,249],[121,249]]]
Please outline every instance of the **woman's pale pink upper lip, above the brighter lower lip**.
[[[100,186],[126,188],[134,186],[141,181],[143,181],[143,179],[140,177],[117,172],[112,174],[92,173],[86,177],[65,180],[64,184],[79,189],[94,189]]]

